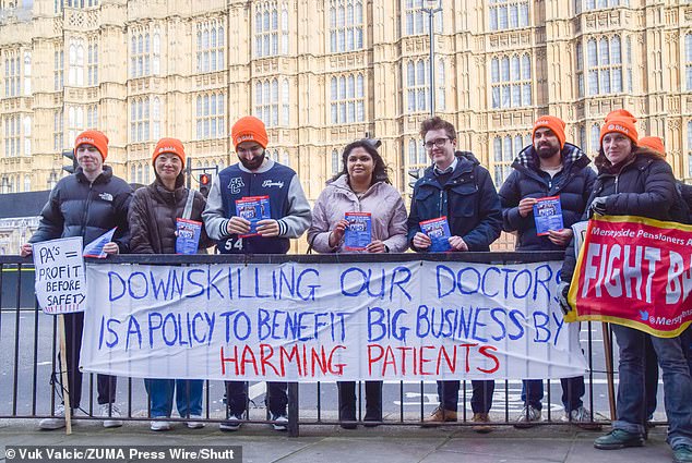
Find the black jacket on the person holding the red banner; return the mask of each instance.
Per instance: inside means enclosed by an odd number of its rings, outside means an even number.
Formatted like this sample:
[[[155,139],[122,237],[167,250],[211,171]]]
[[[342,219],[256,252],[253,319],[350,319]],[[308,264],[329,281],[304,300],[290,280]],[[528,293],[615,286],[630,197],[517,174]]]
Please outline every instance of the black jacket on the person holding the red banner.
[[[676,190],[672,169],[660,156],[651,153],[637,153],[619,173],[599,168],[583,220],[588,219],[588,206],[601,196],[607,196],[608,216],[640,216],[673,221],[684,219],[680,216],[680,205],[676,204],[682,199]],[[562,281],[571,281],[574,273],[576,257],[573,246],[574,241],[564,254]]]

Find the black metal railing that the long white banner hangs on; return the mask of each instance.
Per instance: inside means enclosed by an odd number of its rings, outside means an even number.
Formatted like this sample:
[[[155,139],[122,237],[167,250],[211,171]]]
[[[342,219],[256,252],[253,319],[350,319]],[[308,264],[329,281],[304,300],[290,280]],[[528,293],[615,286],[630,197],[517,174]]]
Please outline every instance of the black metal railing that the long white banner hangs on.
[[[190,264],[282,264],[286,261],[301,264],[329,263],[382,263],[382,261],[466,261],[479,264],[522,264],[548,260],[560,260],[563,253],[442,253],[442,254],[342,254],[342,255],[121,255],[107,259],[111,264],[147,264],[184,266]],[[103,260],[87,259],[91,265]],[[57,324],[56,317],[44,316],[34,296],[34,272],[31,259],[19,256],[0,256],[0,363],[4,365],[0,376],[0,418],[41,418],[51,416],[56,404],[60,403],[62,389],[57,363]],[[600,324],[583,324],[582,345],[585,348],[589,371],[586,374],[585,405],[594,411],[594,421],[606,423],[610,412],[606,389],[606,362],[601,353],[594,352],[594,344],[600,340]],[[609,336],[606,333],[606,336]],[[117,395],[117,403],[127,421],[150,421],[150,404],[141,379],[119,378],[126,386]],[[82,409],[75,419],[103,419],[95,401],[95,375],[85,377],[88,393],[82,401]],[[492,425],[512,425],[518,416],[517,407],[523,402],[518,398],[520,380],[496,381],[496,397],[491,415]],[[546,394],[544,403],[547,419],[538,424],[569,424],[561,419],[561,404],[552,404],[556,393],[560,393],[560,382],[545,380]],[[362,392],[362,383],[357,389]],[[122,386],[120,387],[122,388]],[[248,386],[249,413],[244,416],[248,423],[271,424],[266,410],[255,400],[263,395],[264,386],[256,382]],[[554,389],[554,390],[553,390]],[[595,389],[598,391],[596,392]],[[204,385],[203,421],[223,422],[227,416],[224,405],[223,381],[207,380]],[[336,404],[336,385],[334,383],[289,383],[288,387],[288,431],[297,436],[299,425],[335,425],[338,424]],[[123,399],[124,395],[124,399]],[[457,423],[445,425],[474,425],[467,405],[470,397],[470,381],[462,381],[460,391],[460,413]],[[360,398],[361,394],[358,393]],[[434,407],[437,391],[434,381],[396,381],[384,385],[384,397],[387,406],[383,425],[419,426],[423,417]],[[606,399],[604,399],[604,397]],[[384,405],[384,400],[383,400]],[[358,401],[357,416],[362,418],[365,405]],[[501,410],[501,412],[499,412]],[[184,422],[186,418],[171,418],[171,422]]]

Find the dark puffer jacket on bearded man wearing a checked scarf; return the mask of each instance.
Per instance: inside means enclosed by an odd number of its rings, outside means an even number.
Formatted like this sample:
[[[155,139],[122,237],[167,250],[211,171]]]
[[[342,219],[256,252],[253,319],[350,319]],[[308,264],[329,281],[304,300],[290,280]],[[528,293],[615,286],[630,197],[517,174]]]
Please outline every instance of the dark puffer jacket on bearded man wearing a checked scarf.
[[[562,172],[556,175],[556,182],[538,171],[538,160],[533,146],[524,148],[512,167],[514,171],[500,187],[502,204],[502,227],[504,231],[517,232],[517,251],[563,251],[563,246],[552,243],[548,236],[536,235],[534,215],[522,217],[518,214],[520,200],[530,197],[560,196],[562,222],[564,228],[578,222],[586,209],[596,172],[588,166],[590,160],[584,151],[569,143],[561,151]]]

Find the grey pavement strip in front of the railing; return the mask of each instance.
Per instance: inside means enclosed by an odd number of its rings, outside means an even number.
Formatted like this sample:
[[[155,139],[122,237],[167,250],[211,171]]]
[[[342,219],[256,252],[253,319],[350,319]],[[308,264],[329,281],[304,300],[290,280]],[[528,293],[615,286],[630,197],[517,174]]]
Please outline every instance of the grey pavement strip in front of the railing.
[[[606,431],[609,428],[606,428]],[[639,463],[669,462],[666,429],[657,426],[643,448],[602,451],[593,447],[600,432],[572,426],[547,425],[530,429],[498,426],[488,435],[468,427],[384,425],[342,429],[334,425],[302,425],[300,437],[288,437],[266,424],[246,424],[236,432],[222,432],[215,423],[203,429],[153,432],[148,422],[130,422],[105,429],[100,422],[80,421],[72,435],[64,429],[41,431],[35,419],[0,419],[0,462],[5,446],[241,446],[244,463]]]

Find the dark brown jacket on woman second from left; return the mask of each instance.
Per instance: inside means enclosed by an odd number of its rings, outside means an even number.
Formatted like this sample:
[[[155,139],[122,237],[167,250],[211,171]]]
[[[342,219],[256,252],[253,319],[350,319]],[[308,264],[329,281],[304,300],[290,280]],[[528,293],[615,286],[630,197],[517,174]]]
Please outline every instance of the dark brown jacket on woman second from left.
[[[176,254],[176,219],[182,218],[189,190],[183,186],[182,174],[176,181],[176,190],[166,190],[158,178],[148,186],[134,192],[130,214],[130,241],[133,254]],[[204,196],[194,192],[190,220],[202,221],[206,205]],[[202,227],[200,248],[214,244]]]

